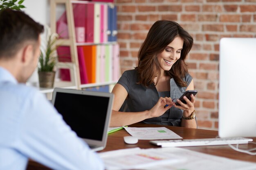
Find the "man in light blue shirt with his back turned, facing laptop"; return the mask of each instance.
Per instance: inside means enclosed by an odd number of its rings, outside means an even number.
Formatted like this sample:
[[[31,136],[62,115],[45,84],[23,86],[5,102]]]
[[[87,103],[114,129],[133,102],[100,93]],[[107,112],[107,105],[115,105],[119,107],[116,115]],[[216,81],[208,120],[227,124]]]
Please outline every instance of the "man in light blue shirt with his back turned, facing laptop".
[[[43,26],[21,11],[0,11],[0,170],[28,158],[64,170],[101,170],[103,162],[46,98],[23,83],[33,73]]]

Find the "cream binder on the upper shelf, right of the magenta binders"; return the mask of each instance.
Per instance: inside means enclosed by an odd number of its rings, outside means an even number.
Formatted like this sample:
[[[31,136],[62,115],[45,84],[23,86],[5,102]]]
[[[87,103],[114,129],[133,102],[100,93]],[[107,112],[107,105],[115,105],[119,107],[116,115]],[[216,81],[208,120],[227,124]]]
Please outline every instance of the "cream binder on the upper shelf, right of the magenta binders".
[[[100,43],[101,36],[101,5],[94,4],[94,43]]]

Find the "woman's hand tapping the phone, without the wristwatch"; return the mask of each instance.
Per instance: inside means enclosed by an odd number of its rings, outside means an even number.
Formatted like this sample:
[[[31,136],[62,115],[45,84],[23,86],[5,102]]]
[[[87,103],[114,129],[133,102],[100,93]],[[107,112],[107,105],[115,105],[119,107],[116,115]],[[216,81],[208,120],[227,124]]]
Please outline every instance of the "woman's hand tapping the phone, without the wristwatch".
[[[168,105],[168,106],[166,106]],[[162,116],[168,109],[174,105],[173,101],[169,97],[160,97],[157,103],[148,112],[148,118],[155,118]]]

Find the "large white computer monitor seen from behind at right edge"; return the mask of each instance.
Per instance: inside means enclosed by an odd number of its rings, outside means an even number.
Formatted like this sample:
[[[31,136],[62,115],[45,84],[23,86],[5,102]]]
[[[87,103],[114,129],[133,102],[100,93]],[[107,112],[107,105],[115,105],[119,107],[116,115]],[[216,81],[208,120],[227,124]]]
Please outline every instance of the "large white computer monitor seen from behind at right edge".
[[[256,38],[222,38],[219,74],[219,136],[256,137]]]

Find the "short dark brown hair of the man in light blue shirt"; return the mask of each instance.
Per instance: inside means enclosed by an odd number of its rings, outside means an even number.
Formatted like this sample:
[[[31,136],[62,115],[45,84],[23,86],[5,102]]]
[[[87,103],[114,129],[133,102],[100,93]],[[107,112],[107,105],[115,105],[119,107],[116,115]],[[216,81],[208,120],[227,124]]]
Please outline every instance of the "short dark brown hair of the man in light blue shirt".
[[[13,57],[27,41],[38,41],[43,25],[22,11],[0,11],[0,58]]]

